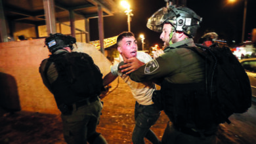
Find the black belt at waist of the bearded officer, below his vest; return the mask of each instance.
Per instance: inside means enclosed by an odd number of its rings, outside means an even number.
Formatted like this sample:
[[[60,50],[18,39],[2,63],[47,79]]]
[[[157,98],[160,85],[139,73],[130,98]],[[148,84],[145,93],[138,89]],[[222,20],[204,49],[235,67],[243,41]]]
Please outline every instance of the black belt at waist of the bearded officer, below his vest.
[[[178,130],[179,132],[182,132],[184,134],[192,135],[194,137],[208,137],[214,134],[207,134],[205,132],[198,132],[196,130],[193,130],[192,128],[175,128],[175,130]]]

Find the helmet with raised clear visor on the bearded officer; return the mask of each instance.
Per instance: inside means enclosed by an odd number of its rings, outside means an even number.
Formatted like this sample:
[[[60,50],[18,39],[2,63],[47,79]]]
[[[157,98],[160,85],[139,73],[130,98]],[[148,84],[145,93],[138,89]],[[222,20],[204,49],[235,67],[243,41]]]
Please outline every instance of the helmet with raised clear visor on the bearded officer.
[[[152,31],[161,32],[163,24],[169,23],[175,27],[176,31],[182,31],[189,37],[196,35],[202,18],[193,10],[187,7],[177,7],[169,5],[155,12],[149,19],[146,26]]]

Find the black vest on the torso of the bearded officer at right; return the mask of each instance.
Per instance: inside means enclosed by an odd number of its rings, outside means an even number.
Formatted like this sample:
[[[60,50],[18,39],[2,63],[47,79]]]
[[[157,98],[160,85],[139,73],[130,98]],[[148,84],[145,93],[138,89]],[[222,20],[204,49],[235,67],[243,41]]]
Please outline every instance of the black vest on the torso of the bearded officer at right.
[[[211,101],[205,93],[205,82],[192,84],[161,84],[163,110],[175,126],[209,128],[213,124]]]

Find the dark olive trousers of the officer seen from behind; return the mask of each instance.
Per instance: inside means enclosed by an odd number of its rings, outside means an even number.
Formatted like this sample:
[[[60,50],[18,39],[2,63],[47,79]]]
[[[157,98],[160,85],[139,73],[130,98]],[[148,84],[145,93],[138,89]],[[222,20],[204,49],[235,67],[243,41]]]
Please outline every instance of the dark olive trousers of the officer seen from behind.
[[[100,120],[102,103],[96,100],[78,109],[73,106],[72,115],[61,115],[64,139],[68,144],[107,143],[102,135],[96,132]]]

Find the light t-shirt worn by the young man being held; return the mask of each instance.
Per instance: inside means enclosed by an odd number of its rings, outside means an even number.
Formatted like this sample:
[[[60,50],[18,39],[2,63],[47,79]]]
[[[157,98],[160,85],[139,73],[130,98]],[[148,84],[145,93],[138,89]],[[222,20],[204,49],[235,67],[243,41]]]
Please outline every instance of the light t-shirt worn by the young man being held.
[[[123,58],[121,56],[120,59],[120,62],[122,62]],[[137,59],[143,63],[147,63],[152,60],[151,56],[145,52],[137,52]],[[111,73],[116,76],[118,75],[121,77],[121,79],[123,79],[123,81],[125,81],[125,83],[128,84],[128,86],[131,88],[133,97],[140,105],[152,105],[152,94],[154,90],[156,90],[155,84],[153,82],[132,81],[128,75],[118,71],[118,64],[119,63],[116,63],[111,67]]]

